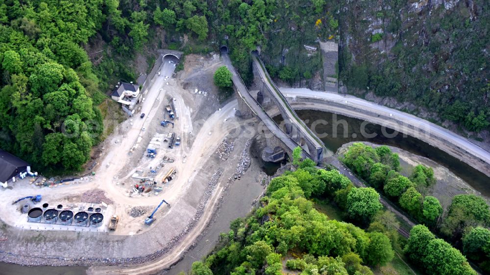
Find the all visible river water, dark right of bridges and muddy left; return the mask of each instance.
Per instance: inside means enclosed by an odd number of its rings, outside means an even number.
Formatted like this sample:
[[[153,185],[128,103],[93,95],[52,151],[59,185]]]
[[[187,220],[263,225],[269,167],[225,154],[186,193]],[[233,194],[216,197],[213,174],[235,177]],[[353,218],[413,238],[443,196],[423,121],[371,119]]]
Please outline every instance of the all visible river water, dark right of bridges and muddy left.
[[[308,126],[311,126],[313,121],[322,119],[327,124],[318,124],[315,128],[318,134],[327,134],[325,137],[321,137],[321,140],[332,151],[337,151],[344,143],[351,141],[369,141],[377,144],[387,144],[409,151],[411,153],[427,157],[435,162],[438,162],[442,166],[448,168],[458,177],[462,178],[466,183],[470,184],[474,189],[481,192],[482,195],[490,197],[489,183],[490,179],[483,173],[475,170],[473,167],[467,165],[449,154],[441,151],[440,149],[431,146],[417,138],[410,136],[404,136],[397,134],[394,137],[387,138],[383,135],[384,129],[379,125],[368,124],[365,126],[365,131],[368,133],[375,133],[376,137],[366,138],[363,137],[361,127],[363,120],[346,117],[343,115],[335,115],[332,113],[301,110],[297,111],[297,114],[306,122]],[[280,122],[280,117],[274,118],[276,122]],[[334,126],[332,121],[344,120],[346,122],[346,132],[344,126],[340,123],[337,127]],[[391,130],[386,132],[392,133]],[[263,167],[267,170],[268,174],[275,171],[279,165],[265,165]],[[257,164],[252,163],[250,169],[260,169]],[[245,181],[236,181],[232,183],[222,202],[221,209],[219,210],[216,221],[211,224],[208,231],[200,239],[197,245],[191,249],[186,256],[177,263],[171,270],[164,271],[163,274],[176,275],[181,271],[188,272],[194,261],[200,260],[202,257],[212,251],[216,245],[221,232],[229,230],[229,224],[232,220],[245,216],[251,209],[251,202],[259,196],[263,191],[263,187],[259,183],[246,183]],[[22,267],[13,264],[0,263],[0,275],[82,275],[85,274],[86,268],[84,267]]]

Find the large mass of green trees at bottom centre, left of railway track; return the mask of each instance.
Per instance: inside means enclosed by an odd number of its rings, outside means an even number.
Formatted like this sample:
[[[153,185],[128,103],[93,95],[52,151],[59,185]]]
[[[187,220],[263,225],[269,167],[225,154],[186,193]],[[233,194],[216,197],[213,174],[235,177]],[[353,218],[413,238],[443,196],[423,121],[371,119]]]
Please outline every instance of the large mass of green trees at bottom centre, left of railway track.
[[[260,206],[234,220],[215,250],[194,263],[191,274],[367,275],[402,248],[410,257],[436,255],[422,259],[431,265],[427,274],[476,274],[461,252],[442,239],[429,235],[434,242],[417,246],[417,230],[430,233],[424,226],[412,229],[414,237],[408,241],[399,238],[400,225],[392,212],[383,210],[374,188],[354,187],[339,171],[319,169],[311,160],[294,162],[296,169],[272,179]],[[313,203],[319,198],[334,201],[347,222],[319,212]],[[452,272],[456,270],[461,272]]]

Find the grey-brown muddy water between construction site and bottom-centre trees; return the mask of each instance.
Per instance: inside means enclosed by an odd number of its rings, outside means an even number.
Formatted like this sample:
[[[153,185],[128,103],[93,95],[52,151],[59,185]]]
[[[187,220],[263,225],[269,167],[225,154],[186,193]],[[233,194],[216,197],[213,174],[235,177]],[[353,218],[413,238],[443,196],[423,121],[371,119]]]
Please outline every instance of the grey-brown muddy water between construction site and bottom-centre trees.
[[[260,169],[252,166],[249,169]],[[245,174],[246,175],[246,174]],[[245,176],[246,177],[246,176]],[[244,217],[251,210],[251,203],[264,191],[260,183],[254,183],[252,179],[245,182],[244,180],[235,181],[228,187],[221,208],[218,212],[216,221],[211,224],[205,235],[200,239],[197,245],[191,249],[185,257],[177,263],[171,270],[161,274],[177,275],[184,271],[186,274],[191,270],[192,263],[201,260],[213,250],[218,243],[221,232],[230,230],[230,222],[236,218]]]

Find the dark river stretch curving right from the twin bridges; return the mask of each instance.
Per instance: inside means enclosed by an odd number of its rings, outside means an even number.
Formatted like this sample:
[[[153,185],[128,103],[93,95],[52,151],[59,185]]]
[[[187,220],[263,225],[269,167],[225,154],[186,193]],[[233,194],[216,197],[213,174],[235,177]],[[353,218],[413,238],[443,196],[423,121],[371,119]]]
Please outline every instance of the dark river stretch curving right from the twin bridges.
[[[393,131],[391,129],[386,129],[385,131],[380,125],[371,123],[368,123],[364,127],[365,132],[374,133],[376,134],[376,137],[366,138],[361,134],[361,124],[364,122],[364,120],[311,110],[298,110],[296,112],[299,117],[301,117],[301,119],[303,119],[310,127],[313,121],[318,121],[319,119],[323,119],[328,122],[326,125],[317,124],[315,130],[316,133],[323,134],[323,136],[326,134],[326,137],[320,138],[325,143],[327,148],[333,152],[336,152],[337,149],[339,149],[344,143],[351,141],[369,141],[376,144],[386,144],[398,147],[441,164],[442,166],[448,168],[456,176],[460,177],[466,183],[471,185],[471,187],[480,192],[483,196],[486,196],[487,198],[490,197],[489,177],[477,171],[465,162],[458,160],[446,152],[443,152],[440,149],[417,138],[406,136],[401,133],[398,133],[392,138],[387,138],[383,135],[383,132],[392,134]],[[274,120],[279,121],[279,117],[275,117]],[[333,123],[335,120],[338,122],[344,120],[346,121],[346,124],[338,123],[337,127],[335,127]],[[344,125],[346,125],[347,131],[344,131]]]

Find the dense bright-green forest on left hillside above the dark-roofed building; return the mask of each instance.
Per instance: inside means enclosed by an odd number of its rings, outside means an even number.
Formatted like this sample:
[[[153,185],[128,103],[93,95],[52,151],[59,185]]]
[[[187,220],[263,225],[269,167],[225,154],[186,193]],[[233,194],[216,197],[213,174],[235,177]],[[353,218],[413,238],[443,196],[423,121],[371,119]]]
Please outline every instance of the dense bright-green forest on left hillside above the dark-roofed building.
[[[36,168],[77,169],[98,142],[101,94],[80,44],[100,28],[102,6],[1,1],[0,147]]]

